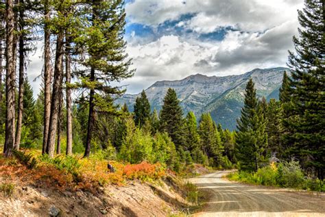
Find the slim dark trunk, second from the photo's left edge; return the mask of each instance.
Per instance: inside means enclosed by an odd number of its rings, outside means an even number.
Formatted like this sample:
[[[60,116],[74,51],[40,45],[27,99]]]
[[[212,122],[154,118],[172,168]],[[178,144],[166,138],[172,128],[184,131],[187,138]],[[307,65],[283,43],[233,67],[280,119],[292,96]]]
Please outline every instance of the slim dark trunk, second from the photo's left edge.
[[[23,0],[20,1],[21,4],[24,3]],[[24,35],[22,34],[24,29],[24,11],[19,12],[19,26],[21,35],[19,36],[19,95],[18,95],[18,116],[17,116],[17,126],[16,126],[16,139],[14,144],[14,149],[19,150],[21,144],[21,125],[23,122],[23,94],[24,94]]]

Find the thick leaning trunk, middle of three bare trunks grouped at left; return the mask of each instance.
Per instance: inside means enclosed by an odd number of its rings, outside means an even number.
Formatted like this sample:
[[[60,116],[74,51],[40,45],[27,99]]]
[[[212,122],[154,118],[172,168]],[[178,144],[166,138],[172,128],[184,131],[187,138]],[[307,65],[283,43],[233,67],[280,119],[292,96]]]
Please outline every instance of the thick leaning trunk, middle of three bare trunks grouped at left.
[[[46,149],[46,153],[49,154],[49,157],[54,156],[55,144],[56,144],[56,130],[58,127],[60,93],[62,92],[62,81],[63,81],[63,67],[62,67],[63,38],[64,38],[64,33],[60,31],[56,39],[56,62],[54,66],[51,114],[49,117],[49,134],[47,138],[47,149]]]

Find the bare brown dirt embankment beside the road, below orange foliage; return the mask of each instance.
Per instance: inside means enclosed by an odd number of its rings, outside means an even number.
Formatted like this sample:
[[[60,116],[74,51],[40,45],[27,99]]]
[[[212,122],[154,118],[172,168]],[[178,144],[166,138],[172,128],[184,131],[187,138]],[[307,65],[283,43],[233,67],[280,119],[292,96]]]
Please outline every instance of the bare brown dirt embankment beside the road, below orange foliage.
[[[100,193],[60,192],[15,183],[12,196],[0,193],[0,216],[169,216],[188,204],[169,181],[133,181]]]

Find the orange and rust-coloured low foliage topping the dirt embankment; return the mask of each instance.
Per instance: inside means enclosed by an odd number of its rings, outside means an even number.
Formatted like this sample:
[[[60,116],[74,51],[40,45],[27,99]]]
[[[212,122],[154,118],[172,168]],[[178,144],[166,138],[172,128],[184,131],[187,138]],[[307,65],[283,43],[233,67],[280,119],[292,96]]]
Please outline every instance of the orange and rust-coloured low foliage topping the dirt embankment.
[[[39,159],[38,159],[39,160]],[[23,181],[26,184],[53,187],[58,190],[88,190],[96,192],[100,186],[108,184],[123,185],[127,179],[150,181],[165,175],[165,168],[160,164],[124,165],[110,161],[115,173],[110,173],[106,160],[78,159],[81,164],[77,179],[67,170],[60,170],[49,163],[38,162],[37,168],[29,169],[20,164],[14,157],[5,158],[0,155],[0,177]]]

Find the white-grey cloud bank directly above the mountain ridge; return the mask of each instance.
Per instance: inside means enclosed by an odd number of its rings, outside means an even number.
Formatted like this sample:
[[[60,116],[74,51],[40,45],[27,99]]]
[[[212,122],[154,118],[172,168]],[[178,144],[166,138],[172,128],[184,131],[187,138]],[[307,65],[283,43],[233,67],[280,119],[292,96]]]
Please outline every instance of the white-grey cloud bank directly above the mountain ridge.
[[[296,31],[294,22],[287,21],[263,34],[228,31],[220,42],[171,35],[148,44],[128,45],[136,75],[123,84],[130,84],[128,92],[137,93],[155,81],[182,79],[195,73],[238,75],[254,68],[285,66]]]

